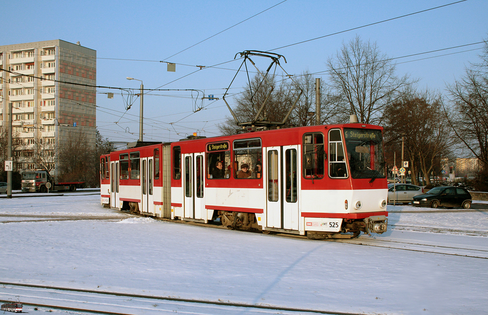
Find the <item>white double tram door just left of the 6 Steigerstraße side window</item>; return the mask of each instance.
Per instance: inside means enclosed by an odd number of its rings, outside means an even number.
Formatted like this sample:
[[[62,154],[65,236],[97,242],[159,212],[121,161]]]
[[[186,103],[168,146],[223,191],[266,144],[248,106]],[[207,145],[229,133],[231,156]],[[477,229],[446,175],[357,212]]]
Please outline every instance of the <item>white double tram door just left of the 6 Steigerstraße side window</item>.
[[[184,217],[205,219],[203,153],[183,154]]]

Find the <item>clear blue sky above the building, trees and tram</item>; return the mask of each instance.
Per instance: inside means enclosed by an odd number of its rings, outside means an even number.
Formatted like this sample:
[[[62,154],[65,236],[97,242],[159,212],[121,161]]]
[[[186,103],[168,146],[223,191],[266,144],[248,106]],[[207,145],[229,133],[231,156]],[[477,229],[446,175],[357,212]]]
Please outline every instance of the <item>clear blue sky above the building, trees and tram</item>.
[[[198,89],[206,96],[221,98],[241,63],[232,61],[238,52],[267,51],[454,2],[9,1],[1,6],[8,31],[3,32],[0,45],[80,41],[82,46],[97,50],[99,86],[138,89],[139,81],[125,79],[133,77],[142,80],[144,88]],[[486,16],[488,2],[467,0],[273,52],[284,55],[287,63],[281,64],[288,73],[298,75],[308,70],[327,80],[327,72],[322,72],[327,69],[327,58],[356,34],[376,42],[389,58],[398,58],[481,42],[488,38]],[[481,47],[478,44],[400,58],[396,60],[397,74],[419,79],[420,89],[445,92],[446,84],[460,78],[465,66],[478,62]],[[454,54],[439,57],[446,53]],[[418,60],[422,58],[429,59]],[[176,72],[166,71],[166,63],[159,62],[163,60],[176,63]],[[269,65],[267,59],[253,60],[261,70]],[[197,71],[197,66],[224,62],[229,63]],[[244,79],[243,74],[239,75],[232,85],[233,92],[241,90]],[[101,134],[112,141],[136,140],[139,99],[134,97],[134,106],[126,112],[118,90],[97,91],[97,127]],[[108,99],[107,92],[115,92],[114,99]],[[204,100],[202,104],[201,97],[190,91],[148,92],[144,96],[144,140],[174,141],[193,132],[207,137],[218,135],[216,124],[230,113],[221,99]],[[195,106],[201,105],[204,109],[193,113]]]

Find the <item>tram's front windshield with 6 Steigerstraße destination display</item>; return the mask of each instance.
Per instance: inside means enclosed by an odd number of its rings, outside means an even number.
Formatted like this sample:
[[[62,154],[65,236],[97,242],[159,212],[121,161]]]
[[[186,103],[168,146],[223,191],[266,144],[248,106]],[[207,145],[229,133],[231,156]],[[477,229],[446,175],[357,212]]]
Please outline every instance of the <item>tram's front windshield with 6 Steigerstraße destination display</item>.
[[[380,130],[344,128],[352,178],[384,178],[385,159]]]

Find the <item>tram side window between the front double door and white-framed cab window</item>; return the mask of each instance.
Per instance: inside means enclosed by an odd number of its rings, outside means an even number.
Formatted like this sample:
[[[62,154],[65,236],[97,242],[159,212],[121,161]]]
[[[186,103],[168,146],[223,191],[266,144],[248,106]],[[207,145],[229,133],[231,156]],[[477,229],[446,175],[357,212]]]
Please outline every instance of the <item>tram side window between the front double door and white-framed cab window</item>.
[[[303,174],[305,178],[324,177],[324,135],[305,134],[303,137]]]

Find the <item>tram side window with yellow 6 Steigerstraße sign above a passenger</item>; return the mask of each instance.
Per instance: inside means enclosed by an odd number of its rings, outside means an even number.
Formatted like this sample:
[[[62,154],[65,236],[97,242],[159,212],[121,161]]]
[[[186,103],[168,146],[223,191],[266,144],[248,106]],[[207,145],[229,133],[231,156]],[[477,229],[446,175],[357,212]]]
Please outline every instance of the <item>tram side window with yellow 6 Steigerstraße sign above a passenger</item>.
[[[230,178],[231,151],[229,141],[207,144],[207,178]]]

